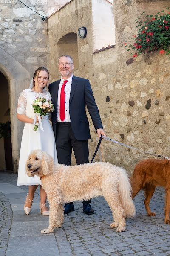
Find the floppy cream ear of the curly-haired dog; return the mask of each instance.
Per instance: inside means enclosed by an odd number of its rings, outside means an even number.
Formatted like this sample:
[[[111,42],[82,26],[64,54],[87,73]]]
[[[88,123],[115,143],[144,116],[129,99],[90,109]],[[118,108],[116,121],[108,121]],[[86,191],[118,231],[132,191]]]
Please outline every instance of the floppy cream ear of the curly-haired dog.
[[[44,175],[51,174],[54,170],[54,160],[45,151],[42,152],[42,172]]]

